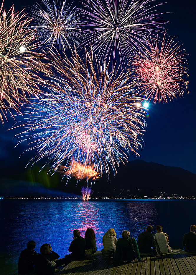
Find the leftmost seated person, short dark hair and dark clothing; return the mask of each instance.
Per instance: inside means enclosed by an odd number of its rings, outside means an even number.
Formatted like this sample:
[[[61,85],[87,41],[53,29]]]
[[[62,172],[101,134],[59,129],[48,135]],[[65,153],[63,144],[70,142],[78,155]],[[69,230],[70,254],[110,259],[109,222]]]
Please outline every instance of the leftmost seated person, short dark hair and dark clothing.
[[[27,248],[22,250],[18,260],[18,273],[21,275],[35,274],[34,263],[37,253],[35,252],[35,242],[29,241]]]

